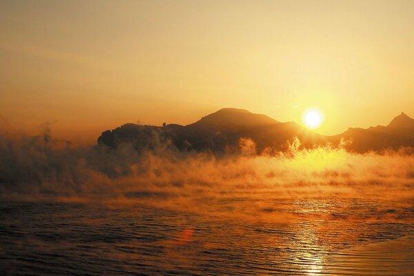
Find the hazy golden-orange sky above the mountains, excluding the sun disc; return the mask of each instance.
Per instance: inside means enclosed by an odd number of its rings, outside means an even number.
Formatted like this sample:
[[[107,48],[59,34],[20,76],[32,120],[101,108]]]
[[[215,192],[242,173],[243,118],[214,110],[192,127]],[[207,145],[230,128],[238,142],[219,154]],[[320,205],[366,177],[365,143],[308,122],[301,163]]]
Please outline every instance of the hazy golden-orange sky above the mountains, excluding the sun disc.
[[[414,116],[414,1],[0,1],[0,124],[94,141],[219,108]]]

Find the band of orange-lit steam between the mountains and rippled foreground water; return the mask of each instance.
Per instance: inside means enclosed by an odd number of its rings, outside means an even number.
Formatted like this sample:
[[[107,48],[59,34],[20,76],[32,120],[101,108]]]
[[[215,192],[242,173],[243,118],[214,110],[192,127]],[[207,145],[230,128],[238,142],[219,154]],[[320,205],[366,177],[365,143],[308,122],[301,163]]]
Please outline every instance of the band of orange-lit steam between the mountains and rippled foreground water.
[[[130,144],[106,148],[57,148],[48,140],[0,139],[0,189],[4,198],[128,202],[203,212],[202,198],[250,199],[380,197],[413,198],[414,156],[403,150],[364,155],[344,146],[255,154],[251,139],[227,157],[197,152],[137,152]],[[195,203],[196,202],[196,203]],[[246,212],[244,212],[246,213]],[[255,213],[250,213],[255,215]]]

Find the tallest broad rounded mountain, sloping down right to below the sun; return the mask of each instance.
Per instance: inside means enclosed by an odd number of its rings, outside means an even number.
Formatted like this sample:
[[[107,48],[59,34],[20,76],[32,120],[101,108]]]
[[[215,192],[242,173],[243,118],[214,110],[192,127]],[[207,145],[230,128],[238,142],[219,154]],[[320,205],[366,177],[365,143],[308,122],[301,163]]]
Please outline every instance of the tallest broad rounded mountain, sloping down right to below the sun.
[[[188,141],[190,148],[213,152],[234,150],[243,137],[253,139],[259,152],[268,147],[281,149],[295,137],[308,146],[324,140],[322,135],[294,122],[281,123],[266,115],[235,108],[221,109],[181,128],[178,133],[181,141]]]

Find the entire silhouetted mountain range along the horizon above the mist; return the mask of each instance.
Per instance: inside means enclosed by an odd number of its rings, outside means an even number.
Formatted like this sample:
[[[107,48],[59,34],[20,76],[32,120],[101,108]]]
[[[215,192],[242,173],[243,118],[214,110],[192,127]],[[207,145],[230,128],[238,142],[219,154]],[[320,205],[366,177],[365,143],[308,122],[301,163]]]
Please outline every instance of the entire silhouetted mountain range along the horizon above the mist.
[[[224,108],[187,126],[124,124],[115,130],[102,132],[98,145],[117,148],[119,144],[128,142],[137,150],[167,147],[221,155],[237,152],[241,138],[253,139],[257,152],[262,152],[265,148],[284,150],[287,142],[295,137],[304,148],[326,143],[337,145],[341,139],[351,140],[348,148],[357,152],[414,147],[414,119],[402,112],[388,126],[349,128],[340,135],[324,136],[295,122],[282,123],[247,110]]]

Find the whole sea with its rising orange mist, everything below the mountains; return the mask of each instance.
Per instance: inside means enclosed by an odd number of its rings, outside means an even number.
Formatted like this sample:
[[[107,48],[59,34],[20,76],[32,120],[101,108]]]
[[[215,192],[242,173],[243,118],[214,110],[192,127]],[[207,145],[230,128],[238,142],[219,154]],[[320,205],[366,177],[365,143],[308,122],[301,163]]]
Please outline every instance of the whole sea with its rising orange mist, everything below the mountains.
[[[413,275],[414,155],[0,139],[0,271]]]

